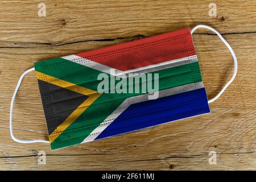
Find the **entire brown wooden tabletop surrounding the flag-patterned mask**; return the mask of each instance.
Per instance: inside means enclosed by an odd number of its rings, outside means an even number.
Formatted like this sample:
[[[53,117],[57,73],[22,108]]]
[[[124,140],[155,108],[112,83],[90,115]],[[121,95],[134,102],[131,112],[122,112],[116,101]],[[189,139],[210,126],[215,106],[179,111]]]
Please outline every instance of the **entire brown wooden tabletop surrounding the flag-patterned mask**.
[[[46,17],[38,16],[41,2]],[[212,2],[217,17],[208,15]],[[256,169],[255,22],[256,1],[0,1],[0,169]],[[11,97],[19,76],[35,61],[196,24],[220,31],[238,59],[237,77],[210,104],[211,114],[57,151],[10,138]],[[193,40],[212,98],[232,76],[232,56],[211,32],[200,29]],[[14,133],[19,139],[47,139],[33,72],[15,100]],[[212,150],[216,165],[208,163]],[[38,164],[39,151],[46,151],[46,165]]]

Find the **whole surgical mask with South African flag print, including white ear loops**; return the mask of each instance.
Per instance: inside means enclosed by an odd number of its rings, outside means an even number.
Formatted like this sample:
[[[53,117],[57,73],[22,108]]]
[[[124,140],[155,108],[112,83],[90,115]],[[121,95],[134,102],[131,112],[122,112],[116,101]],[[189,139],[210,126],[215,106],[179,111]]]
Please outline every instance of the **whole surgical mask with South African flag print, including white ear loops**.
[[[215,32],[234,59],[231,80],[209,101],[191,36],[200,27]],[[38,78],[49,141],[13,135],[14,99],[30,71]],[[54,150],[207,114],[208,104],[220,97],[236,73],[233,49],[204,25],[41,61],[24,72],[16,86],[11,137],[20,143],[50,143]]]

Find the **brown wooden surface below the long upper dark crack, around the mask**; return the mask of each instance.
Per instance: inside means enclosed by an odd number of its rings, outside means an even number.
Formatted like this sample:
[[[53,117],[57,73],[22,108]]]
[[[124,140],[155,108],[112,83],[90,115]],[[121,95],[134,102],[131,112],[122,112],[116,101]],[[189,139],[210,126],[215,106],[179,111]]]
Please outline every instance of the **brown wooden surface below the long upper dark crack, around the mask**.
[[[254,39],[255,35],[253,34]],[[193,36],[208,96],[213,97],[232,74],[227,48],[214,35]],[[34,60],[57,57],[117,44],[85,42],[60,47],[2,48],[1,61],[1,169],[254,169],[255,167],[255,61],[251,34],[225,35],[237,53],[238,76],[216,102],[211,114],[156,126],[109,139],[57,151],[48,144],[19,144],[9,137],[9,105],[19,75]],[[239,41],[238,41],[239,40]],[[243,47],[247,47],[246,50]],[[69,51],[68,51],[69,50]],[[13,53],[15,51],[15,54]],[[15,67],[14,67],[15,65]],[[46,124],[34,73],[24,79],[15,101],[14,132],[20,139],[47,139]],[[46,151],[47,165],[36,164]],[[218,164],[208,164],[208,152]],[[19,157],[18,157],[19,156]],[[24,157],[20,157],[24,156]],[[26,160],[26,162],[25,162]],[[70,161],[77,161],[70,163]],[[59,166],[59,163],[65,164]]]

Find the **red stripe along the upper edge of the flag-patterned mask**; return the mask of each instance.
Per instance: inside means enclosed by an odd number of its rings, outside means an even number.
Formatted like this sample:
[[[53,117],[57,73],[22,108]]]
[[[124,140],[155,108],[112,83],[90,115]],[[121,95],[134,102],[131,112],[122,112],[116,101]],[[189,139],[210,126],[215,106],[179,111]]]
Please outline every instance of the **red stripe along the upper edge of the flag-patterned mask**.
[[[127,71],[196,55],[196,52],[190,29],[185,28],[76,55],[120,71]]]

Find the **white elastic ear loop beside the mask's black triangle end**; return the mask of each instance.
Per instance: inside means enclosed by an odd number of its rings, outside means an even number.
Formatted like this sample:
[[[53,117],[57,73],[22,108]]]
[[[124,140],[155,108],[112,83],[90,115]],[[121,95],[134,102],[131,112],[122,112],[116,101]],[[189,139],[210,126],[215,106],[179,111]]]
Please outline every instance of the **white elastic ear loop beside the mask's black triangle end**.
[[[37,143],[37,142],[49,143],[49,141],[47,141],[47,140],[20,140],[18,138],[15,138],[14,135],[13,135],[13,105],[14,105],[14,100],[15,100],[16,94],[17,94],[17,92],[19,90],[19,86],[20,86],[20,84],[22,82],[23,77],[28,72],[31,72],[31,71],[34,71],[34,70],[35,70],[35,68],[30,68],[27,71],[25,71],[24,73],[22,73],[22,76],[20,76],[18,84],[17,84],[16,89],[14,91],[13,98],[11,99],[11,107],[10,107],[10,133],[11,133],[11,138],[15,142],[19,142],[19,143]]]

